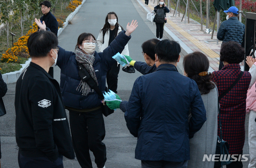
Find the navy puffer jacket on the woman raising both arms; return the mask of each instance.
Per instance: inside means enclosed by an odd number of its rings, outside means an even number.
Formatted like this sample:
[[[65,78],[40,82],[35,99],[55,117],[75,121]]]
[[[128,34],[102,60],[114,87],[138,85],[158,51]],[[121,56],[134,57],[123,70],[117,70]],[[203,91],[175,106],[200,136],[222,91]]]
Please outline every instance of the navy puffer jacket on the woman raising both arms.
[[[95,51],[95,61],[92,66],[95,70],[99,84],[98,87],[102,93],[105,92],[106,88],[107,71],[116,62],[112,56],[118,52],[121,53],[129,40],[130,36],[127,36],[123,30],[103,52],[97,53]],[[78,75],[78,66],[74,52],[65,51],[63,48],[60,48],[57,65],[61,69],[60,90],[65,106],[76,109],[88,109],[101,105],[101,99],[95,91],[90,92],[87,96],[82,96],[80,89],[79,91],[76,90],[81,78]]]

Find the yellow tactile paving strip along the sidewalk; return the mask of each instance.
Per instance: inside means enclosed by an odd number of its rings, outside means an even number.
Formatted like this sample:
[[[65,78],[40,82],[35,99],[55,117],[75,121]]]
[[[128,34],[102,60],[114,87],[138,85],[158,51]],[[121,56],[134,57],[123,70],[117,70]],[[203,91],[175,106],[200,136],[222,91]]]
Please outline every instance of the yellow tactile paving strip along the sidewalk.
[[[151,10],[154,10],[154,7],[148,6]],[[203,51],[207,56],[210,58],[218,58],[219,54],[215,53],[213,50],[208,48],[206,45],[202,44],[199,40],[197,40],[195,37],[191,36],[189,33],[187,33],[185,30],[180,28],[177,24],[172,22],[170,19],[167,19],[167,23],[169,23],[174,29],[176,29],[181,35],[183,35],[186,39],[191,41],[197,48],[199,48],[201,51]]]

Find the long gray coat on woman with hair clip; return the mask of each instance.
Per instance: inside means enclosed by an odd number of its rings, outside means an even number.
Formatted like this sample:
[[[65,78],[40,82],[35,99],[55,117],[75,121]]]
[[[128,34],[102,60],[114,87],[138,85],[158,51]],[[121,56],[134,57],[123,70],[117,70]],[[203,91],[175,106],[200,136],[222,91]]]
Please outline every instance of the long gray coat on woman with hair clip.
[[[208,94],[201,94],[206,109],[207,120],[203,127],[190,139],[190,160],[188,168],[213,168],[214,162],[203,162],[204,154],[208,157],[216,151],[218,132],[218,91],[212,89]]]

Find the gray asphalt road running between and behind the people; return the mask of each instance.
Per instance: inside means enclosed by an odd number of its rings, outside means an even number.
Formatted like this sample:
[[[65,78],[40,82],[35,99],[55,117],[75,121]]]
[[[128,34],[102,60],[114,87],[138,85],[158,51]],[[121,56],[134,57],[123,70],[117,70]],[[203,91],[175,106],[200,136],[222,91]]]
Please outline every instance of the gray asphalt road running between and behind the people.
[[[142,1],[143,2],[143,1]],[[155,25],[146,20],[146,13],[138,5],[137,0],[86,0],[79,12],[72,19],[62,34],[58,37],[59,45],[65,50],[74,51],[77,38],[81,33],[92,33],[96,39],[100,29],[105,24],[105,18],[108,12],[114,11],[118,16],[118,23],[126,29],[128,22],[137,19],[138,27],[132,33],[132,38],[128,42],[130,57],[133,60],[144,61],[142,56],[142,43],[148,39],[155,38]],[[166,39],[166,36],[163,37]],[[96,48],[96,51],[98,48]],[[183,58],[183,56],[182,56]],[[178,70],[182,73],[182,60],[178,63]],[[122,67],[122,66],[121,66]],[[132,91],[134,81],[141,74],[128,74],[120,70],[118,77],[118,95],[122,100],[128,100]],[[60,81],[60,69],[54,68],[54,78]],[[15,83],[8,85],[8,91],[5,95],[4,103],[7,114],[0,117],[0,134],[2,148],[2,168],[17,168],[18,147],[15,141]],[[69,115],[67,111],[67,115]],[[248,121],[247,121],[248,122]],[[134,150],[137,138],[134,138],[126,127],[124,114],[117,110],[114,114],[105,117],[106,137],[103,142],[107,147],[106,168],[139,168],[140,161],[134,158]],[[248,126],[246,126],[248,128]],[[26,128],[24,128],[26,129]],[[249,154],[248,138],[244,147],[244,154]],[[94,156],[91,154],[94,161]],[[64,167],[79,168],[77,160],[64,158]],[[247,167],[248,163],[244,164]],[[96,168],[96,164],[93,162]]]

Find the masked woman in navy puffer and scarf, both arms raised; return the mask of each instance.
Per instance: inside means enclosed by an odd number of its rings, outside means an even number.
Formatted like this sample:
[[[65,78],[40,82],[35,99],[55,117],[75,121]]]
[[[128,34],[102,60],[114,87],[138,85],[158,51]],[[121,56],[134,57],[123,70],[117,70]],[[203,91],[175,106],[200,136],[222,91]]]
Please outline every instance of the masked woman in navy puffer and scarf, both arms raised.
[[[46,29],[44,22],[36,23],[41,29]],[[57,65],[61,69],[60,90],[65,108],[69,110],[72,142],[82,168],[92,168],[89,150],[93,152],[98,168],[105,168],[107,158],[106,146],[102,143],[105,137],[102,99],[81,80],[78,63],[84,65],[104,93],[107,71],[116,63],[112,56],[123,51],[137,24],[136,20],[128,23],[126,31],[121,31],[103,52],[95,51],[96,39],[90,33],[80,34],[75,52],[59,48]]]

